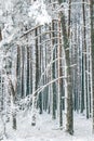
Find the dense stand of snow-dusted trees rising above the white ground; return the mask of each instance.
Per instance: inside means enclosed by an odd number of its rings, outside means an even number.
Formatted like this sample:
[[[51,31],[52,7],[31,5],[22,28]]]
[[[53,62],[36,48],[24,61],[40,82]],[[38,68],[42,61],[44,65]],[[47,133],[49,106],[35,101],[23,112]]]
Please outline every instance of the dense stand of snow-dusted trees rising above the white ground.
[[[73,134],[73,113],[94,133],[94,0],[0,0],[0,118],[46,112]]]

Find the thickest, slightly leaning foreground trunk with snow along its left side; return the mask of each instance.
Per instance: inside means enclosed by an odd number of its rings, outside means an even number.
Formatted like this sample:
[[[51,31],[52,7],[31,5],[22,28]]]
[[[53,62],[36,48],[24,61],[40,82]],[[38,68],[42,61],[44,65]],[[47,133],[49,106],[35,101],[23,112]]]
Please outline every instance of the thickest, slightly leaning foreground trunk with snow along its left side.
[[[62,4],[62,0],[58,0],[59,4]],[[63,41],[64,41],[64,49],[65,49],[65,57],[67,64],[67,125],[66,131],[70,134],[73,133],[73,113],[72,113],[72,89],[71,89],[71,69],[70,69],[70,57],[69,57],[69,41],[66,30],[66,22],[64,13],[59,13],[61,21],[62,21],[62,30],[63,30]]]

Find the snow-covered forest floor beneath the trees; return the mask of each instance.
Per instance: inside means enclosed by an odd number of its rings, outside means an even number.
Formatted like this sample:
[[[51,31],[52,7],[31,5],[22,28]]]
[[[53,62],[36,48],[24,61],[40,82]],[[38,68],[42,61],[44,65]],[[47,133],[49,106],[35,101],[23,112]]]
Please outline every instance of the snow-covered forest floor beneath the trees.
[[[94,141],[92,120],[75,114],[75,133],[69,136],[65,129],[59,130],[57,120],[52,120],[46,113],[37,117],[37,126],[31,126],[30,113],[21,114],[17,118],[17,130],[12,130],[11,123],[6,124],[8,139],[2,141]]]

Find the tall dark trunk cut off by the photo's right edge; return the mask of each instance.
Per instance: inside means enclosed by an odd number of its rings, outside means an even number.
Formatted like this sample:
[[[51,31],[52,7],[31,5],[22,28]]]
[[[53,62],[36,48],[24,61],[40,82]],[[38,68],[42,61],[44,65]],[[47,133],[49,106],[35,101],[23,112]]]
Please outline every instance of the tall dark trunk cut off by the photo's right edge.
[[[91,10],[91,50],[92,50],[92,91],[93,91],[93,133],[94,133],[94,0],[90,0]]]

